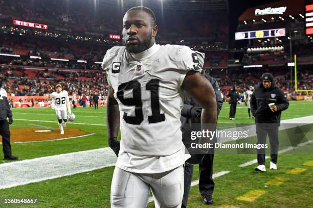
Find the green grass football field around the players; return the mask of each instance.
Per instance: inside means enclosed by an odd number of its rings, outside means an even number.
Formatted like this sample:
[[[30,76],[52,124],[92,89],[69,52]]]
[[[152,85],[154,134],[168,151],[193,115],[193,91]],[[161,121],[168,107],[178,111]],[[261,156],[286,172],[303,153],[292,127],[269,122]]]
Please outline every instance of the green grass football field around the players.
[[[310,116],[313,115],[312,109],[312,101],[290,101],[289,108],[282,113],[282,119]],[[15,143],[12,144],[13,154],[17,155],[20,160],[26,160],[107,147],[105,107],[99,107],[98,110],[79,107],[72,111],[76,115],[76,120],[68,126],[77,127],[83,132],[95,133],[95,135],[58,141]],[[12,109],[12,112],[14,123],[11,125],[11,132],[16,128],[26,127],[57,128],[57,123],[51,122],[57,120],[54,111],[50,108]],[[252,119],[248,119],[247,108],[244,105],[238,105],[236,120],[230,121],[228,115],[229,105],[225,102],[219,116],[219,123],[254,123]],[[312,125],[306,129],[306,137],[313,140]],[[285,131],[281,131],[280,135],[283,136],[284,133]],[[256,138],[251,137],[247,141],[256,141]],[[0,157],[3,157],[2,153]],[[229,171],[229,173],[215,179],[213,206],[313,207],[313,144],[280,154],[277,171],[269,170],[269,159],[266,160],[268,169],[265,173],[255,172],[256,164],[238,167],[254,159],[256,159],[255,154],[215,154],[214,173],[220,171]],[[295,168],[301,169],[288,172]],[[29,207],[110,207],[110,183],[113,170],[114,167],[107,167],[2,189],[0,199],[38,198],[38,204]],[[198,168],[195,166],[193,179],[197,178]],[[1,176],[0,180],[2,180]],[[277,183],[277,181],[282,181],[282,183]],[[13,207],[13,205],[0,204],[0,207]],[[153,202],[149,203],[148,207],[154,207]],[[191,188],[188,207],[207,207],[202,203],[198,186]]]

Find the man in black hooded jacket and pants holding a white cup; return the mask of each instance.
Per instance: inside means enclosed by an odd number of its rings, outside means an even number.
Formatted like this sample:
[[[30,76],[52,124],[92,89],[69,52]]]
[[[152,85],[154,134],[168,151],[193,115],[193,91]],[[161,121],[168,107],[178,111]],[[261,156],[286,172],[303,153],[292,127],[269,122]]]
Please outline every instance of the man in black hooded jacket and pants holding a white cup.
[[[289,102],[284,92],[277,87],[274,76],[264,73],[260,86],[253,92],[250,100],[251,112],[255,117],[257,144],[266,144],[269,134],[271,144],[270,169],[277,169],[278,154],[278,127],[280,125],[281,112],[286,110]],[[258,166],[256,171],[266,171],[265,148],[257,149]]]

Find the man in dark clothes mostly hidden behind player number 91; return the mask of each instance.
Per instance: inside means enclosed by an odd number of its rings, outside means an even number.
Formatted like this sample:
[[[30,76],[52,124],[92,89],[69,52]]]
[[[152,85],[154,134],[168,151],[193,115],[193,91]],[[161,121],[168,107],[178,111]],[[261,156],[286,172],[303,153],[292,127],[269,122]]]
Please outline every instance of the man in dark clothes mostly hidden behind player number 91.
[[[210,81],[212,87],[215,91],[216,101],[217,101],[217,115],[219,114],[221,107],[223,105],[220,89],[217,81],[206,74],[205,77]],[[182,110],[182,132],[183,132],[183,142],[188,148],[190,146],[190,124],[200,124],[202,108],[197,105],[197,103],[191,98],[191,96],[185,93],[184,107]],[[213,158],[214,158],[214,149],[211,154],[206,154],[202,162],[199,163],[199,191],[203,196],[203,202],[205,204],[212,204],[212,193],[214,190],[214,181],[212,178],[213,175]],[[183,196],[182,207],[187,207],[188,195],[191,186],[193,173],[193,165],[185,163],[185,190]]]

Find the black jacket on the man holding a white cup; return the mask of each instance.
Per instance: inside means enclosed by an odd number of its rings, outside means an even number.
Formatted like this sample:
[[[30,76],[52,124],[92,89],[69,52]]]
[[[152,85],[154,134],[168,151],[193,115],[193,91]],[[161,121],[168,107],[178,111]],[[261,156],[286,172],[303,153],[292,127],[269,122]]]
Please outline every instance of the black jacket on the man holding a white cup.
[[[278,111],[272,112],[269,103],[275,103]],[[269,89],[260,86],[253,92],[250,100],[251,112],[256,123],[280,123],[281,112],[286,110],[289,102],[284,92],[278,88],[275,82]]]

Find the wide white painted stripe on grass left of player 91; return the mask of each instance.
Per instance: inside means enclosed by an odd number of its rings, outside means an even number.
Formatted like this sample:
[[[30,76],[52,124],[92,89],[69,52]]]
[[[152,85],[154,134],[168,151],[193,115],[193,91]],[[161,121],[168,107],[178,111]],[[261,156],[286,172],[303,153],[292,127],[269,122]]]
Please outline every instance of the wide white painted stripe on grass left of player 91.
[[[114,166],[109,147],[0,164],[0,189],[36,183]]]

